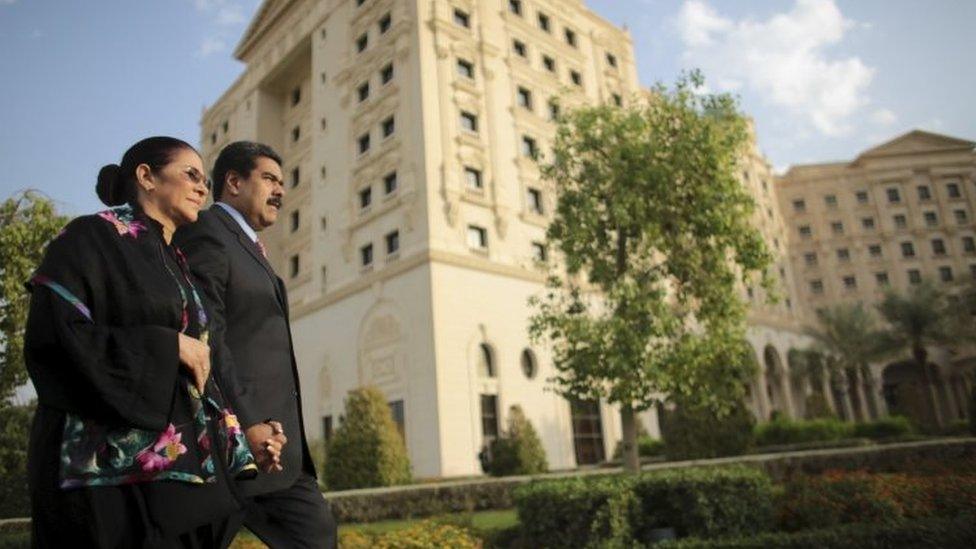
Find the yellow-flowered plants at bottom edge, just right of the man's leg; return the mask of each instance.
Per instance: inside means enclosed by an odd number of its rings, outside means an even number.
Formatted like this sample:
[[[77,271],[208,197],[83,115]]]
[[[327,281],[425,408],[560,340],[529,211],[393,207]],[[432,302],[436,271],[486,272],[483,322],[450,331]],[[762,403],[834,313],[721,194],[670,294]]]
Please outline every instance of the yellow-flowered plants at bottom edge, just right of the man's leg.
[[[425,520],[383,534],[343,532],[339,546],[343,549],[476,549],[481,547],[481,542],[463,528]]]

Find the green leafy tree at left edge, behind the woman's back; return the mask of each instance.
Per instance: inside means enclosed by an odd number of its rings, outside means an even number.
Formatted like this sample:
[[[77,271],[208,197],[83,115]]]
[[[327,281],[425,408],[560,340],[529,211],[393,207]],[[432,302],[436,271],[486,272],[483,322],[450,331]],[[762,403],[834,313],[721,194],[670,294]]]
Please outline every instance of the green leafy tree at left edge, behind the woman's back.
[[[38,191],[17,193],[0,204],[0,403],[27,382],[23,341],[29,297],[24,283],[67,221]]]

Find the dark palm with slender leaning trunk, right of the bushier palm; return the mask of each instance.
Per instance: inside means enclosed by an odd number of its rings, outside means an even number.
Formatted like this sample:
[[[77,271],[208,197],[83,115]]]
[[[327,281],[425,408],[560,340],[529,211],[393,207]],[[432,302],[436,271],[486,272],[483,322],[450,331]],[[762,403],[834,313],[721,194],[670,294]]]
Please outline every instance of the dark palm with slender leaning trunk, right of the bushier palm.
[[[905,295],[888,291],[878,305],[878,311],[889,325],[883,339],[891,345],[893,352],[908,350],[911,353],[925,380],[926,390],[923,392],[929,401],[936,426],[942,427],[942,413],[934,398],[935,385],[928,366],[928,347],[958,343],[953,337],[957,330],[953,327],[946,294],[923,282]]]

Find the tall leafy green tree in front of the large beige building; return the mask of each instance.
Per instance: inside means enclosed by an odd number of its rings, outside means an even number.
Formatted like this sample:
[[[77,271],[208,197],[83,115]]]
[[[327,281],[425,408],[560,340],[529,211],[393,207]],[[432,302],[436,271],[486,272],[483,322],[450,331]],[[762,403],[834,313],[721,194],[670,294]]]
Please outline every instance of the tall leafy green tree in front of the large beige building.
[[[547,242],[565,273],[551,270],[530,299],[530,336],[551,341],[558,392],[620,405],[630,471],[637,412],[665,398],[728,411],[743,398],[753,372],[738,360],[738,285],[772,290],[737,178],[746,121],[731,96],[696,93],[702,84],[692,73],[632,106],[565,114],[543,167],[558,198]]]

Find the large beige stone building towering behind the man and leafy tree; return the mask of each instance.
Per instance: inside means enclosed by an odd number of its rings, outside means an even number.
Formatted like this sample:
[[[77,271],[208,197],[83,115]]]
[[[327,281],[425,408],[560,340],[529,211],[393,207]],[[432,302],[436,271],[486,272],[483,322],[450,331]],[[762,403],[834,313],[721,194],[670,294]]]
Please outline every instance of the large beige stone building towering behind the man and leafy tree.
[[[265,0],[235,56],[247,68],[203,113],[204,161],[238,139],[285,159],[284,207],[262,240],[289,288],[308,435],[330,436],[344,395],[369,383],[419,477],[478,474],[513,404],[551,467],[608,457],[618,410],[547,390],[527,301],[554,259],[555,197],[535,157],[559,105],[639,95],[629,34],[580,0]],[[802,416],[791,225],[755,147],[742,178],[782,281],[775,305],[743,288],[763,365],[753,410]],[[642,419],[656,434],[654,412]]]

